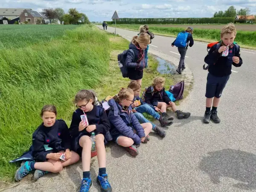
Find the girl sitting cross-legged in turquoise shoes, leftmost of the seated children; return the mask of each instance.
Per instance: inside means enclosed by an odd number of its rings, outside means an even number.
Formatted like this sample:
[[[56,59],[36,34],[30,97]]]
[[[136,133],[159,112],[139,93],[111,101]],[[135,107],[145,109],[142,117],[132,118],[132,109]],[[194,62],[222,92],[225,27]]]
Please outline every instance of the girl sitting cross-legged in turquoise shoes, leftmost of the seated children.
[[[76,163],[79,155],[70,151],[70,133],[63,120],[56,120],[57,110],[54,105],[45,105],[41,110],[43,123],[32,136],[32,156],[35,161],[22,163],[15,174],[20,181],[35,170],[34,180],[47,172],[58,173],[63,167]],[[60,160],[64,154],[65,160]]]

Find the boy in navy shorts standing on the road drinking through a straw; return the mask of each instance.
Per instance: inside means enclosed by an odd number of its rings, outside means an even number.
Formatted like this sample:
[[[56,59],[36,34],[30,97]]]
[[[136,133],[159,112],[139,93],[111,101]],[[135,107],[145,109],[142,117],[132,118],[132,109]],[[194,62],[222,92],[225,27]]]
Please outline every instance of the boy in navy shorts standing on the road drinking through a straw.
[[[204,58],[204,62],[209,66],[205,93],[206,111],[203,119],[205,123],[209,123],[210,119],[215,123],[221,122],[217,116],[217,107],[222,91],[230,78],[232,65],[240,67],[243,63],[240,57],[240,47],[234,44],[235,38],[234,24],[224,26],[221,29],[221,43],[212,46]],[[224,51],[227,51],[227,56],[222,56]]]

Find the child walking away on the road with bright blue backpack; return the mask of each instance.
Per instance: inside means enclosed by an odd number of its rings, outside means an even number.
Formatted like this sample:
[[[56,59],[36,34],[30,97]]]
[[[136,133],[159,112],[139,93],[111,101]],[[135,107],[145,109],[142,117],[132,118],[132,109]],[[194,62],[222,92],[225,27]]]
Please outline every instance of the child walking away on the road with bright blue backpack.
[[[186,33],[188,33],[187,36],[185,35]],[[188,47],[192,47],[194,45],[194,40],[193,40],[192,34],[193,34],[193,28],[188,27],[185,31],[179,33],[177,38],[172,43],[172,47],[177,46],[178,52],[180,53],[179,67],[176,70],[179,74],[181,74],[182,70],[186,69],[185,56],[186,56],[186,51],[187,51]],[[185,44],[181,44],[182,42]]]

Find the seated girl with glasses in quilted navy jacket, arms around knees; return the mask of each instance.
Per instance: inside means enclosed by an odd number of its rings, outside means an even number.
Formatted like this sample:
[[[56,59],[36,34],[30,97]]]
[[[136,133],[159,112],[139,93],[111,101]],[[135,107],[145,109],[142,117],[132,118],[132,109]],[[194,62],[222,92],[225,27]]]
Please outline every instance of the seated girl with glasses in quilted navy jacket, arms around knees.
[[[148,134],[152,130],[151,123],[140,124],[131,104],[134,103],[134,92],[130,88],[122,88],[119,93],[108,101],[110,111],[108,119],[111,123],[111,136],[118,145],[126,148],[132,157],[138,155],[137,146],[148,142]]]

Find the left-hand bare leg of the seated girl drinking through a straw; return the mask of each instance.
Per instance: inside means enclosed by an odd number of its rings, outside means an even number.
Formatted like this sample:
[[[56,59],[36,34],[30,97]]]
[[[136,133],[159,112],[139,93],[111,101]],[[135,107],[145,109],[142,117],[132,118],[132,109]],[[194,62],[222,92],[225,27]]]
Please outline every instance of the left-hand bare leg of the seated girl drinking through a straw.
[[[82,150],[83,172],[89,172],[90,160],[91,160],[91,148],[92,148],[92,142],[90,140],[90,137],[87,135],[82,136],[79,140],[79,145],[83,148]]]

